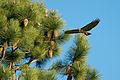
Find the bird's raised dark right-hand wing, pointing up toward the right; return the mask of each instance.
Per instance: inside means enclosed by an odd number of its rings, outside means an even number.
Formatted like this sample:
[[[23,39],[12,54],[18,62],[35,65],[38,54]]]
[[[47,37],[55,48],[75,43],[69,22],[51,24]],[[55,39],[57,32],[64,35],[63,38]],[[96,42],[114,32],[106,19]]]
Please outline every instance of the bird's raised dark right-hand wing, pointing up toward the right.
[[[84,31],[89,31],[92,28],[94,28],[99,22],[100,22],[100,19],[95,19],[91,23],[89,23],[86,26],[82,27],[81,29],[84,30]]]

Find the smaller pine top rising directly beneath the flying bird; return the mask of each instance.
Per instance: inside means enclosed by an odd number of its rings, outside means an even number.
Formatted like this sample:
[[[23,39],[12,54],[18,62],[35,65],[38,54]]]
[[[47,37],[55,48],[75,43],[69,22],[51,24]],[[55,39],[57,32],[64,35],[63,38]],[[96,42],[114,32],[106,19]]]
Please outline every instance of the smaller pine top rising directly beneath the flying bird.
[[[51,70],[66,75],[67,80],[100,80],[96,69],[87,65],[88,50],[87,37],[84,34],[75,36],[74,44],[70,47],[66,58],[53,64]]]

